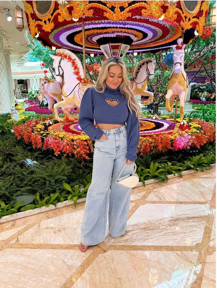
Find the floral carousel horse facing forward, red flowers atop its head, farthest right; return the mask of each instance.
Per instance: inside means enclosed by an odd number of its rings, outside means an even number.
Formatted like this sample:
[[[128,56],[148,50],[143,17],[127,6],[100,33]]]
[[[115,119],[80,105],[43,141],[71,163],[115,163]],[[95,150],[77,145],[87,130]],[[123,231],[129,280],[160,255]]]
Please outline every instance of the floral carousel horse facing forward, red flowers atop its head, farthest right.
[[[184,106],[188,93],[188,77],[184,70],[184,48],[182,38],[177,40],[177,45],[172,46],[173,49],[173,69],[170,74],[170,79],[166,94],[166,109],[168,112],[173,112],[173,103],[176,95],[180,99],[180,118],[184,117]]]

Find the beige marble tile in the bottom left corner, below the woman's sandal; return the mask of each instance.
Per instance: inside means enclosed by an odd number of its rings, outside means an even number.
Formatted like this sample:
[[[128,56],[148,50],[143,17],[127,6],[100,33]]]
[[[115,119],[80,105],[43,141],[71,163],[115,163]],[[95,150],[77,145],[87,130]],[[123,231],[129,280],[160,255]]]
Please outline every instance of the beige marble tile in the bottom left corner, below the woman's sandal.
[[[59,288],[91,250],[5,249],[0,252],[1,288]]]

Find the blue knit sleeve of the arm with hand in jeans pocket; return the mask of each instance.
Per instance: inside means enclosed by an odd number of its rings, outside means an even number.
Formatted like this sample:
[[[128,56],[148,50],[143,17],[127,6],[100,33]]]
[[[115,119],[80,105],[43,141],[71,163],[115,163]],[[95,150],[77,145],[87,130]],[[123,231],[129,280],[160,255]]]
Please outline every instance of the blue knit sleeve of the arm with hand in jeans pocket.
[[[88,88],[81,99],[78,124],[92,139],[99,140],[104,132],[94,125],[92,94],[93,87]]]

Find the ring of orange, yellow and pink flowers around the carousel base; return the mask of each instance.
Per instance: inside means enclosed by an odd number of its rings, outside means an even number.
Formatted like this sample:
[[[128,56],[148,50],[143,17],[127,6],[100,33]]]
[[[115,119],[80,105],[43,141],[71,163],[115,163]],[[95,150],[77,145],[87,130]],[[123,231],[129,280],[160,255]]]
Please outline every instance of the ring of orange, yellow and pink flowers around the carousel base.
[[[200,148],[200,146],[215,139],[216,128],[212,122],[185,118],[184,121],[177,119],[175,125],[170,115],[161,116],[160,119],[162,119],[163,125],[167,126],[159,128],[155,124],[154,126],[158,130],[154,134],[151,127],[154,120],[151,119],[151,115],[147,118],[151,121],[148,122],[145,118],[140,120],[141,137],[137,149],[139,155],[148,154],[151,151],[165,152],[168,149],[177,151],[191,147]],[[47,124],[49,119],[52,119],[51,116],[43,116],[41,119],[34,118],[15,125],[13,127],[14,134],[18,139],[22,137],[26,143],[32,143],[33,148],[42,148],[43,150],[50,148],[55,155],[63,153],[64,156],[71,156],[74,154],[79,161],[90,159],[89,153],[93,152],[92,140],[84,132],[75,131],[75,134],[72,134],[67,130],[52,131],[49,129],[49,124]],[[68,118],[66,120],[69,122]],[[76,123],[75,121],[71,125],[77,125]],[[54,119],[52,120],[53,124],[55,124]],[[148,130],[144,132],[145,125],[149,126],[147,127]]]

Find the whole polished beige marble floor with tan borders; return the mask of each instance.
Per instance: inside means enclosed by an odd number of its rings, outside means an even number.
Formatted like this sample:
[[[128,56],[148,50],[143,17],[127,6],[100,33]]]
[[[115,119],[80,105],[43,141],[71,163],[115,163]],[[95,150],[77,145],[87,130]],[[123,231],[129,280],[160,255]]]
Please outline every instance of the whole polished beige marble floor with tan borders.
[[[1,288],[214,288],[216,168],[134,188],[125,235],[79,250],[85,202],[0,225]]]

